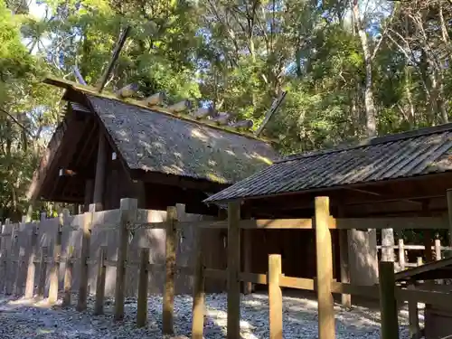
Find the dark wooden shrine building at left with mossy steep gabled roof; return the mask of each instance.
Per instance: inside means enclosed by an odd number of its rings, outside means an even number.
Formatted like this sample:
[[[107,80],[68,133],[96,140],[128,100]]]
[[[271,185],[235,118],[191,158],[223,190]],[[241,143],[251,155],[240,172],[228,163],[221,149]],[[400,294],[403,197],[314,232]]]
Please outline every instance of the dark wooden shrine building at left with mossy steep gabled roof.
[[[250,133],[217,127],[146,103],[99,94],[72,81],[48,78],[65,89],[66,114],[33,176],[29,199],[118,208],[122,197],[138,207],[217,215],[209,194],[271,164],[277,153]]]

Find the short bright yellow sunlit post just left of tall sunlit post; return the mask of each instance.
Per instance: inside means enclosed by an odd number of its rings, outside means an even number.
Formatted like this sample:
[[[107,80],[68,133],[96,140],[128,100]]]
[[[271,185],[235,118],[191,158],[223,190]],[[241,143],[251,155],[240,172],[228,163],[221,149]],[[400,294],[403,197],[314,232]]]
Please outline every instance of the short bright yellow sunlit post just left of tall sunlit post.
[[[268,256],[268,306],[270,339],[283,338],[282,292],[279,277],[282,274],[281,255]]]

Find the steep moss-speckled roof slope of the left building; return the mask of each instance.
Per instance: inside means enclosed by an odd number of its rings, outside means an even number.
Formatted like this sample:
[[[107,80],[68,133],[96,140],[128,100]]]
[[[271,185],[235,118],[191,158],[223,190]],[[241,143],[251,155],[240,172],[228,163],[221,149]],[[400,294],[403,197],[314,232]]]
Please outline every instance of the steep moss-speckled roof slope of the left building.
[[[130,169],[233,184],[271,164],[268,143],[156,112],[87,95]]]

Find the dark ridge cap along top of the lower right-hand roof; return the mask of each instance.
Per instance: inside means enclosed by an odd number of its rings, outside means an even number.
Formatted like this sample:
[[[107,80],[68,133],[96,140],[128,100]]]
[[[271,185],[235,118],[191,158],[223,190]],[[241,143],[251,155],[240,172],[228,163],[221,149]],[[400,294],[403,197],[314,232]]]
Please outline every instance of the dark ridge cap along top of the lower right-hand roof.
[[[450,130],[452,130],[452,123],[441,124],[441,125],[433,126],[433,127],[421,127],[421,128],[417,128],[417,129],[412,129],[410,131],[389,134],[386,136],[366,138],[366,139],[362,140],[361,142],[359,142],[357,145],[353,145],[353,146],[342,146],[342,147],[338,146],[335,148],[330,148],[330,149],[325,149],[325,150],[317,150],[317,151],[311,151],[311,152],[297,153],[294,155],[287,155],[287,157],[280,159],[278,161],[275,161],[274,163],[279,164],[279,163],[285,163],[287,161],[298,160],[298,159],[303,159],[303,158],[308,158],[308,157],[313,157],[313,156],[329,155],[329,154],[333,154],[333,153],[348,151],[351,149],[386,144],[386,143],[391,143],[394,141],[400,141],[400,140],[410,139],[410,138],[415,138],[415,137],[423,137],[423,136],[428,136],[428,135],[432,135],[432,134],[447,132]]]

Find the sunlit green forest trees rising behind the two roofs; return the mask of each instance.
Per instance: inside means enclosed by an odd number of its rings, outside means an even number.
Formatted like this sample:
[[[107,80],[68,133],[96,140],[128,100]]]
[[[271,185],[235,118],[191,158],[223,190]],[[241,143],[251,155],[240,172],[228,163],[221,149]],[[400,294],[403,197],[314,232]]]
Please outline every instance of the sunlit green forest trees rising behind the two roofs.
[[[0,219],[20,215],[61,92],[95,85],[132,27],[106,90],[137,83],[232,112],[282,154],[448,122],[451,0],[0,0]]]

